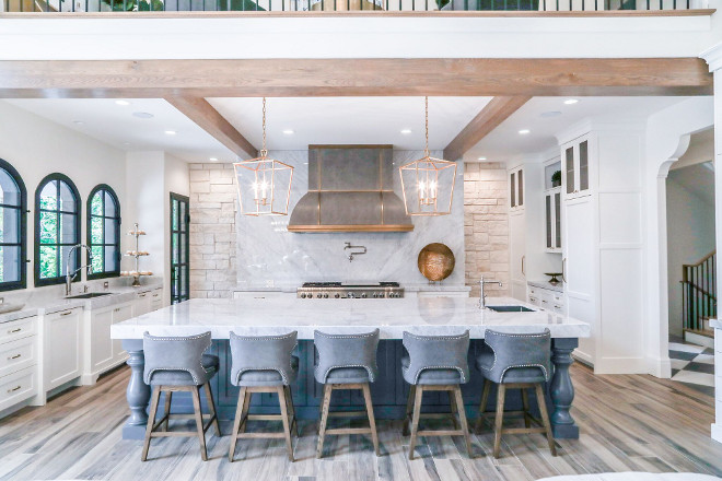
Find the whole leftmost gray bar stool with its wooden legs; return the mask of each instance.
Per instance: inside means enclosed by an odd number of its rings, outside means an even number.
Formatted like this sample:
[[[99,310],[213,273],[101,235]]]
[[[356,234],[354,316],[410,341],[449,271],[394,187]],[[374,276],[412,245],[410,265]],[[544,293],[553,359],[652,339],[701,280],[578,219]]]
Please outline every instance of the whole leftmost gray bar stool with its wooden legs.
[[[218,373],[218,356],[203,354],[211,345],[211,333],[203,332],[198,336],[187,337],[154,337],[148,332],[143,333],[143,354],[145,367],[143,380],[153,389],[151,397],[148,425],[145,427],[145,441],[141,460],[148,459],[151,437],[167,436],[198,436],[200,442],[200,457],[208,460],[206,451],[206,431],[211,424],[216,426],[216,433],[220,436],[221,429],[218,425],[213,392],[208,382]],[[203,414],[200,409],[200,388],[203,387],[208,397],[208,409],[210,419],[203,425]],[[168,431],[171,419],[171,401],[173,392],[190,392],[194,406],[191,418],[196,420],[197,431],[177,432]],[[165,392],[165,414],[155,422],[158,404],[161,392]],[[187,415],[174,414],[174,418],[187,418]],[[162,426],[162,427],[161,427]],[[161,431],[156,431],[156,430]]]

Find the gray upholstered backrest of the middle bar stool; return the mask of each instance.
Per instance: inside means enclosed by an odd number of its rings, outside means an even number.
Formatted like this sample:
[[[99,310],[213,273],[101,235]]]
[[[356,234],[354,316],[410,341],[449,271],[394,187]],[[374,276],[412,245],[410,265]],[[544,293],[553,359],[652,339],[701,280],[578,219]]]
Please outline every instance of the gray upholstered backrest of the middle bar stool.
[[[327,335],[314,331],[314,345],[318,356],[316,379],[326,382],[328,373],[340,367],[362,367],[369,372],[369,380],[376,380],[376,350],[379,329],[361,335]]]

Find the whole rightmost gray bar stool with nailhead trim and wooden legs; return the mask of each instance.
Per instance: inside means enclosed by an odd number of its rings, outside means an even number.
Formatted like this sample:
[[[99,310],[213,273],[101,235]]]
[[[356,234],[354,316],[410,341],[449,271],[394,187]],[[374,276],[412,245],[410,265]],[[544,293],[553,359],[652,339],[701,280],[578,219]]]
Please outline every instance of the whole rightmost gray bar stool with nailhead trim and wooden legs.
[[[484,392],[479,404],[479,418],[476,431],[487,417],[487,400],[491,383],[498,384],[496,436],[493,457],[499,457],[502,434],[544,433],[549,443],[551,455],[557,456],[557,448],[551,437],[551,426],[547,413],[547,403],[542,386],[551,377],[551,335],[549,329],[540,333],[504,333],[487,329],[485,333],[485,351],[477,357],[476,366],[484,375]],[[534,388],[539,406],[542,420],[532,417],[529,412],[526,389]],[[521,389],[523,411],[509,411],[506,414],[524,417],[524,427],[503,429],[504,397],[506,389]],[[534,422],[537,427],[532,427]]]

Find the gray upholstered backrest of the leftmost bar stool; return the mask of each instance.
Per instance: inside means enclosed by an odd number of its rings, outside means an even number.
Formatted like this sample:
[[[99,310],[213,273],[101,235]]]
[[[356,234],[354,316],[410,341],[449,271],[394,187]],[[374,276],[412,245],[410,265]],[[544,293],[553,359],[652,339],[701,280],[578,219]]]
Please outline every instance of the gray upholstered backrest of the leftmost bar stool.
[[[185,337],[155,337],[144,332],[143,380],[145,384],[151,384],[153,373],[156,371],[185,371],[196,384],[206,383],[208,373],[200,360],[210,345],[210,331]]]

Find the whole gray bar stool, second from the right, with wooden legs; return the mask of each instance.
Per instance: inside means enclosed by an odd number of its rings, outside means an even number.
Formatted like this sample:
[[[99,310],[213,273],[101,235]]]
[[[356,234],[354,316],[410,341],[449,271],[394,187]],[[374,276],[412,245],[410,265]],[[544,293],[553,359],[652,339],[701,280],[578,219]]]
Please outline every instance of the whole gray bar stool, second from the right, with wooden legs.
[[[409,433],[409,418],[411,420],[409,459],[414,459],[418,436],[464,436],[466,450],[471,457],[471,441],[461,388],[461,385],[469,379],[469,331],[461,336],[416,336],[404,332],[404,348],[406,353],[401,356],[401,373],[404,379],[411,385],[404,420],[404,435]],[[451,412],[421,414],[421,401],[426,391],[446,391]],[[451,418],[454,430],[419,431],[421,418]]]

